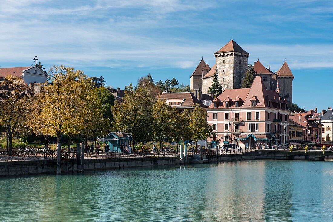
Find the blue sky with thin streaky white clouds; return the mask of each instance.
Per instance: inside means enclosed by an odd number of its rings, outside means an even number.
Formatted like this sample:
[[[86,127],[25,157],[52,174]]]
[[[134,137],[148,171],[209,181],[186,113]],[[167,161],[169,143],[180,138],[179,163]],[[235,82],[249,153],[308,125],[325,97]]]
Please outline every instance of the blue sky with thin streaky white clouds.
[[[114,88],[150,73],[189,77],[231,38],[277,71],[287,61],[293,102],[333,107],[333,1],[1,0],[0,68],[65,65]]]

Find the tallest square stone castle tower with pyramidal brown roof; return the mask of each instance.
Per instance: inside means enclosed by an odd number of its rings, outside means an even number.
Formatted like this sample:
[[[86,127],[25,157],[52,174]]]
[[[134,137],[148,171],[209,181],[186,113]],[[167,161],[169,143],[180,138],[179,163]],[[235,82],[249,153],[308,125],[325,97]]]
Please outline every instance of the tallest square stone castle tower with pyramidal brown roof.
[[[214,53],[218,78],[224,89],[240,88],[249,55],[232,39]]]

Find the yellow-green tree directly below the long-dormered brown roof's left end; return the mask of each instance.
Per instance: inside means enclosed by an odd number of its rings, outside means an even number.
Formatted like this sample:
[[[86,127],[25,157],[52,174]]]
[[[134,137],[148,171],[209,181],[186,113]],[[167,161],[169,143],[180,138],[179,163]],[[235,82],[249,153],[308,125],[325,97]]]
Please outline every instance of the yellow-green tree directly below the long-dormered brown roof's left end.
[[[174,124],[175,116],[175,108],[167,106],[165,101],[158,100],[153,105],[154,138],[161,142],[161,152],[163,150],[163,141],[172,137],[170,128]]]

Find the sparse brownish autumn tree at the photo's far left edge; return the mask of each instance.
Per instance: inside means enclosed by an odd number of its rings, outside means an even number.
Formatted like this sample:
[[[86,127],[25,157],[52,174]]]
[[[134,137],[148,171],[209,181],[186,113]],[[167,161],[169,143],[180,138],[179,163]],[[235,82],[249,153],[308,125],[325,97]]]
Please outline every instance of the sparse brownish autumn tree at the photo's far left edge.
[[[21,78],[13,76],[5,77],[0,89],[0,125],[6,128],[11,152],[14,132],[32,111],[33,94]]]

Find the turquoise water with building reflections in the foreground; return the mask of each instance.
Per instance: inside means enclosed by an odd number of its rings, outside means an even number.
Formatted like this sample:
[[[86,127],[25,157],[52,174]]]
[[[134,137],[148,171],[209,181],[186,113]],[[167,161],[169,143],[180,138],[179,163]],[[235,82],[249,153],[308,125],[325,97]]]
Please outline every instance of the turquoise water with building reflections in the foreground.
[[[0,178],[0,221],[333,221],[333,162]]]

